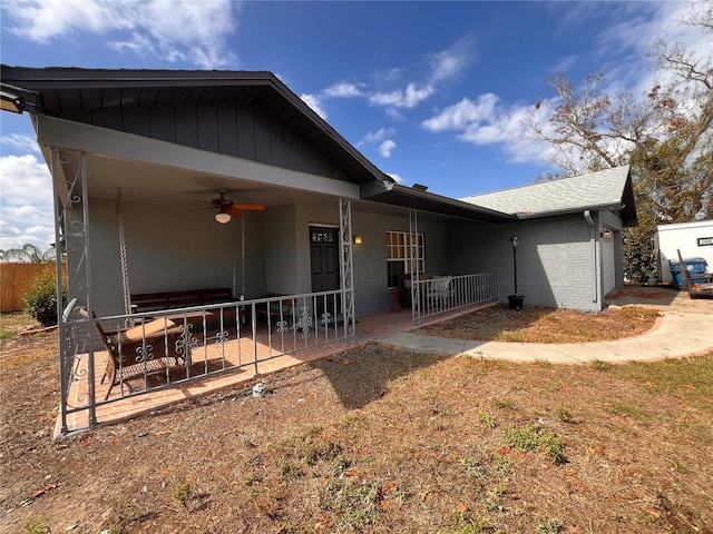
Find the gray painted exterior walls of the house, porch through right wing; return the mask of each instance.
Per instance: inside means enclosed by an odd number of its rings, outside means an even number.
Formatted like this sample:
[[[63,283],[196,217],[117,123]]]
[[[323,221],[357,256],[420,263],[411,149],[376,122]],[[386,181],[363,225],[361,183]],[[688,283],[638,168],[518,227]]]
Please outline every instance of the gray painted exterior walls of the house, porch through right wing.
[[[297,204],[245,218],[245,297],[261,298],[266,291],[311,291],[311,225],[339,227],[339,200],[334,205]],[[391,306],[387,290],[385,231],[409,231],[408,210],[394,215],[360,209],[352,205],[352,233],[362,236],[353,245],[355,312],[358,316],[385,312]],[[99,314],[124,312],[116,205],[90,198],[91,287]],[[495,271],[499,299],[507,301],[512,287],[512,249],[517,235],[518,293],[526,304],[602,309],[611,284],[609,270],[621,280],[621,222],[598,217],[595,227],[582,215],[530,219],[509,225],[438,221],[421,217],[418,230],[426,237],[426,269],[430,274],[465,275]],[[152,204],[124,206],[131,293],[234,287],[242,293],[241,222],[218,225],[211,210],[186,211]],[[618,226],[617,226],[618,225]],[[602,229],[614,233],[611,254],[604,254]],[[616,255],[619,255],[616,258]],[[604,261],[615,261],[615,266]],[[618,264],[616,263],[618,261]],[[609,269],[609,270],[607,270]],[[618,283],[618,281],[616,281]],[[604,287],[603,287],[604,286]]]

